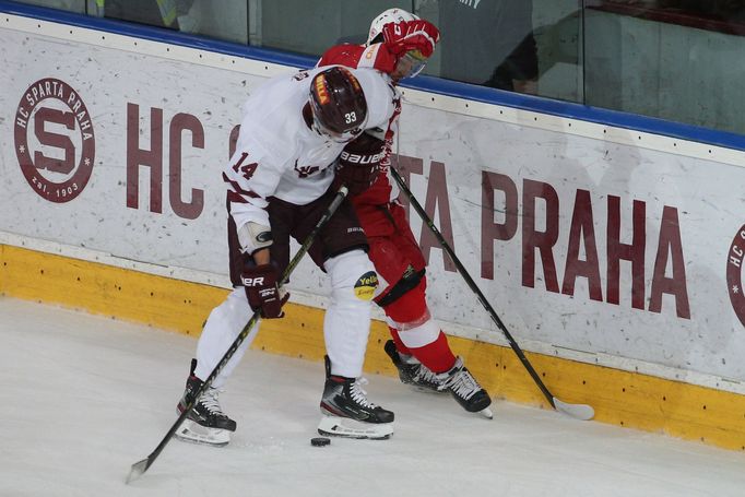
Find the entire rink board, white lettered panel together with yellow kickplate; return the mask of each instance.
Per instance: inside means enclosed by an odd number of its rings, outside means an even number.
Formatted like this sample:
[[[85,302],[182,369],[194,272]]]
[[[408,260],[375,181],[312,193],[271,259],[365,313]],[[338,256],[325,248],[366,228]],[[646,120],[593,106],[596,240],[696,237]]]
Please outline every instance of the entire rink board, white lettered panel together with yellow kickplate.
[[[0,120],[0,233],[108,262],[5,241],[0,289],[198,334],[226,287],[220,168],[241,103],[287,67],[2,20],[1,62],[13,70],[0,74],[0,108],[13,118]],[[398,151],[412,190],[546,384],[592,404],[604,422],[745,447],[745,154],[404,95]],[[495,394],[540,404],[488,316],[411,217],[435,318]],[[209,276],[185,276],[193,272]],[[257,346],[318,358],[326,277],[300,264],[291,291],[301,318],[271,323],[282,331],[261,333]],[[385,336],[376,323],[368,369],[390,374],[375,345]]]

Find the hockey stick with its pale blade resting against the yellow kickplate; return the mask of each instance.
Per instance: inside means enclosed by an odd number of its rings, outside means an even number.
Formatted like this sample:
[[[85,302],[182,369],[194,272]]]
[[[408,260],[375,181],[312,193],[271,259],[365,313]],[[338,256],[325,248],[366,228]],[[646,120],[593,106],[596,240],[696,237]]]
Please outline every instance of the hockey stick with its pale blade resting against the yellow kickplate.
[[[501,322],[501,319],[499,319],[499,316],[497,316],[497,312],[494,310],[492,305],[488,303],[484,294],[481,292],[478,286],[476,285],[476,282],[473,281],[469,272],[465,270],[461,261],[458,259],[458,256],[456,256],[456,252],[450,248],[450,245],[446,241],[446,239],[442,237],[442,234],[440,233],[439,229],[437,229],[437,226],[435,226],[435,223],[433,222],[431,218],[427,215],[425,210],[422,208],[422,204],[416,200],[412,191],[409,189],[406,186],[405,181],[401,177],[398,170],[395,170],[395,167],[391,165],[390,167],[391,175],[393,176],[393,179],[395,179],[395,182],[399,184],[399,187],[401,188],[401,191],[409,199],[409,202],[414,206],[414,210],[419,214],[419,217],[422,217],[422,221],[429,227],[431,233],[435,235],[437,238],[437,241],[439,241],[440,246],[442,249],[450,256],[450,260],[456,264],[456,268],[458,268],[458,272],[461,273],[461,276],[463,276],[463,280],[465,280],[465,283],[469,285],[469,288],[476,294],[476,297],[478,298],[478,301],[481,303],[482,306],[484,306],[484,309],[489,313],[492,317],[492,320],[497,324],[499,330],[505,334],[505,338],[510,344],[510,347],[512,347],[512,351],[515,351],[515,354],[518,356],[522,365],[525,367],[528,372],[530,374],[531,378],[533,378],[533,381],[535,381],[535,384],[537,384],[539,389],[541,389],[541,392],[543,395],[546,398],[548,403],[554,407],[556,411],[561,412],[564,414],[568,414],[571,417],[576,417],[578,419],[592,419],[595,415],[595,411],[587,404],[569,404],[566,402],[561,402],[558,400],[556,397],[554,397],[551,391],[546,388],[546,386],[543,383],[541,380],[541,377],[539,376],[537,372],[535,372],[535,369],[533,368],[533,365],[530,364],[528,360],[528,357],[525,357],[525,354],[523,354],[522,348],[518,345],[518,343],[515,341],[512,335],[510,334],[509,331],[507,331],[507,327],[505,327],[505,323]]]

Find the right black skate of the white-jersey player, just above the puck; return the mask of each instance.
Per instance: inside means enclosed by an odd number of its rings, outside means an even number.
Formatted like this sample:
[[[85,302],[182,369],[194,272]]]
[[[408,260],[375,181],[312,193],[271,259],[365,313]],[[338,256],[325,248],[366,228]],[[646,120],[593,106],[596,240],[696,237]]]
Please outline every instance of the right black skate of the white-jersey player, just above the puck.
[[[368,401],[360,383],[358,378],[331,375],[331,362],[326,356],[320,435],[371,440],[393,435],[393,413]]]

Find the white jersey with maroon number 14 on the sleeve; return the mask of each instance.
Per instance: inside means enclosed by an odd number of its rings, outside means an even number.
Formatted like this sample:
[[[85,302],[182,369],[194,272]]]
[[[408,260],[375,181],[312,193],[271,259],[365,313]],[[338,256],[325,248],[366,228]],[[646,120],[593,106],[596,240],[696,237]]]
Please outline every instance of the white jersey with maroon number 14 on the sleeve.
[[[345,143],[310,129],[303,117],[312,78],[328,69],[273,78],[246,102],[236,151],[223,175],[238,228],[249,221],[269,226],[265,208],[270,197],[305,205],[331,185],[331,166]],[[350,71],[367,100],[365,128],[387,129],[400,98],[390,78],[374,69]]]

